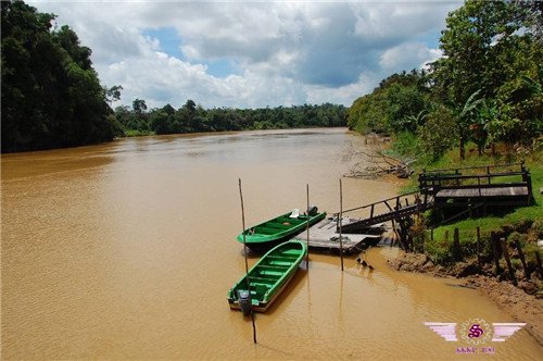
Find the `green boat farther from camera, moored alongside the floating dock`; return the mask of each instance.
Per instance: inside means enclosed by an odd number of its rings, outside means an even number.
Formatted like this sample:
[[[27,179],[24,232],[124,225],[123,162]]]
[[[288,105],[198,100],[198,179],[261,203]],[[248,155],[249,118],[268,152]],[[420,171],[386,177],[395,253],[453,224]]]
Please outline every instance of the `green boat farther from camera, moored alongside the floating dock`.
[[[310,208],[307,214],[299,214],[298,210],[294,210],[252,226],[236,239],[242,244],[244,234],[247,247],[254,251],[269,249],[304,231],[307,227],[307,219],[310,220],[310,226],[312,226],[325,217],[326,212],[318,213],[316,207]]]

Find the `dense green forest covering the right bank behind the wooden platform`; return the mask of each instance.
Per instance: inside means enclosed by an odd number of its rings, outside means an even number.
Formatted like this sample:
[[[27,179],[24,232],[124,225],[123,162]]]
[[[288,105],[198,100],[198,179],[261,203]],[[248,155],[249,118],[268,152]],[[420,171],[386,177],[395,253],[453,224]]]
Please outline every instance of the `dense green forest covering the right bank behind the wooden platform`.
[[[348,124],[391,134],[412,153],[438,159],[472,141],[541,147],[543,2],[466,1],[449,14],[442,58],[427,71],[393,74],[356,99]]]

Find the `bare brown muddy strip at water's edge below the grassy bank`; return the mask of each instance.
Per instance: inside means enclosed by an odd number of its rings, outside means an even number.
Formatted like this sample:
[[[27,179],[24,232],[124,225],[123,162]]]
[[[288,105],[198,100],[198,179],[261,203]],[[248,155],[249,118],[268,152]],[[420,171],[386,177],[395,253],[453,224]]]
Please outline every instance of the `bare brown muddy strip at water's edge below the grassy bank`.
[[[543,346],[543,285],[541,279],[520,281],[515,287],[509,281],[500,281],[483,265],[479,274],[477,262],[470,260],[451,266],[435,265],[426,254],[404,253],[388,261],[396,271],[427,273],[437,277],[462,278],[464,286],[477,288],[501,309],[519,322],[526,322],[527,331]]]

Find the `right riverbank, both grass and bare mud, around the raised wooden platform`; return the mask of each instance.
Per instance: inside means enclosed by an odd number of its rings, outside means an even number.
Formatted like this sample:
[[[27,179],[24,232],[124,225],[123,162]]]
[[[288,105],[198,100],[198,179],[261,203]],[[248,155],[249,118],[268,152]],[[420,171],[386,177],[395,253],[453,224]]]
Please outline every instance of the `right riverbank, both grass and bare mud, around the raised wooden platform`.
[[[404,146],[401,141],[394,141],[391,151],[396,155],[402,154],[401,150]],[[543,237],[543,217],[541,216],[543,195],[540,191],[543,188],[542,151],[478,155],[472,151],[472,145],[468,146],[467,150],[467,157],[462,161],[457,155],[457,149],[452,149],[432,163],[418,161],[414,164],[415,176],[411,177],[411,182],[406,183],[401,192],[418,189],[416,174],[422,169],[454,169],[523,161],[531,173],[534,203],[531,207],[514,209],[506,214],[460,220],[439,226],[430,224],[431,211],[429,211],[417,224],[418,229],[416,226],[411,228],[411,236],[418,237],[418,240],[422,242],[424,252],[402,253],[388,263],[396,271],[462,279],[463,286],[478,289],[515,320],[526,322],[526,329],[543,346],[543,276],[538,271],[535,257],[536,252],[541,254],[538,241]],[[431,234],[430,227],[433,228]],[[459,233],[464,256],[462,261],[454,260],[453,237],[449,237],[453,235],[455,228]],[[480,231],[481,267],[476,256],[477,228]],[[492,247],[490,247],[492,233],[506,241],[505,245],[512,254],[512,266],[518,279],[517,287],[508,281],[510,276],[505,260],[500,261],[503,272],[500,276],[495,275]],[[525,274],[523,261],[520,260],[516,245],[520,245],[523,250],[526,263],[530,270],[529,276]]]

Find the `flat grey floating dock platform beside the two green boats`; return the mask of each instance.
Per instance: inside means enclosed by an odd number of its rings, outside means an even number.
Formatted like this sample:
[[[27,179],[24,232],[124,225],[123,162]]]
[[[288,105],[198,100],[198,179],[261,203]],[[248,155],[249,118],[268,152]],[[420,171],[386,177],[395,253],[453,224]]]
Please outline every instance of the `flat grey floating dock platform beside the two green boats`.
[[[358,222],[358,219],[343,217],[342,225]],[[384,224],[372,225],[368,234],[342,234],[343,254],[353,254],[362,251],[368,246],[377,245],[384,232]],[[294,239],[307,241],[304,232]],[[337,219],[328,217],[310,227],[310,250],[315,252],[340,252],[339,233],[337,232]]]

